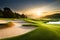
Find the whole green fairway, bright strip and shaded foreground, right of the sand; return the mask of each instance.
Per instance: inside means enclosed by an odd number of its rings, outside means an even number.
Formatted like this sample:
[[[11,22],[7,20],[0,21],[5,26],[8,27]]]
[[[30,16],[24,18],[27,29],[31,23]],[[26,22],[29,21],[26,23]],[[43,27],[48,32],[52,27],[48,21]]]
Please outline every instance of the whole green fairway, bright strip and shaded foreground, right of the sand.
[[[26,21],[36,24],[34,26],[37,26],[37,28],[27,34],[2,40],[60,40],[60,26],[47,25],[41,21],[38,22],[27,19]]]

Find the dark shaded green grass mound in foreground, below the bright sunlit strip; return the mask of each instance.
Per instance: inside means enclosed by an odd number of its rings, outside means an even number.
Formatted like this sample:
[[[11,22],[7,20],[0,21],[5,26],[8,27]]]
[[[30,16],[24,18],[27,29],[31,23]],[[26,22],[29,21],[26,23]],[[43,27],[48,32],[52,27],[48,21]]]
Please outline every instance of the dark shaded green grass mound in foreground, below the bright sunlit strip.
[[[22,36],[8,38],[5,40],[60,40],[59,37],[50,30],[37,28],[36,30],[29,32]]]

